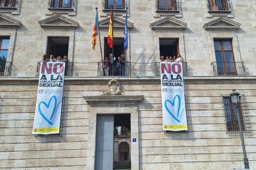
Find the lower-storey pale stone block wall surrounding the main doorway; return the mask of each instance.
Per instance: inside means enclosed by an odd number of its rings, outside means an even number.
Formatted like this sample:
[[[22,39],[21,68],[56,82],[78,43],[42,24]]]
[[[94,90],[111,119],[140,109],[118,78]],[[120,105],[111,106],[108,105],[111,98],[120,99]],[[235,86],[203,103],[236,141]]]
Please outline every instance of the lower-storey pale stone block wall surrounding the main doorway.
[[[247,99],[252,135],[245,136],[245,147],[250,168],[256,168],[255,80],[184,78],[189,132],[165,133],[160,78],[119,78],[126,95],[144,95],[137,124],[140,169],[243,168],[241,140],[227,133],[221,100],[221,94],[230,94],[231,89]],[[0,168],[87,169],[92,113],[83,96],[100,95],[108,90],[107,83],[108,78],[66,78],[61,136],[35,137],[38,78],[0,79]]]

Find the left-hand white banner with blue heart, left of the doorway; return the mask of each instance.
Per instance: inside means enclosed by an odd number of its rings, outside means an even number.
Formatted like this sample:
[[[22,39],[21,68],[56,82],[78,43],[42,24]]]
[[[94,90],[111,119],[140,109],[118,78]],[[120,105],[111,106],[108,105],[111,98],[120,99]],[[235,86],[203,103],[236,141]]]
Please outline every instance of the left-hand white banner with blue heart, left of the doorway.
[[[59,133],[64,70],[64,62],[41,62],[32,134]]]

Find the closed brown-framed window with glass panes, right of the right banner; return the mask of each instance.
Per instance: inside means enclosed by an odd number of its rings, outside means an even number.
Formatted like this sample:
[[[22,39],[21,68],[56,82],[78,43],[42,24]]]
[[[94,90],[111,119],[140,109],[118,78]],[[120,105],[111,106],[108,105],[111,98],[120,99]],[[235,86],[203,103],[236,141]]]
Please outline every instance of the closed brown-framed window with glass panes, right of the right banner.
[[[218,75],[237,75],[231,39],[214,39]]]

